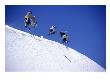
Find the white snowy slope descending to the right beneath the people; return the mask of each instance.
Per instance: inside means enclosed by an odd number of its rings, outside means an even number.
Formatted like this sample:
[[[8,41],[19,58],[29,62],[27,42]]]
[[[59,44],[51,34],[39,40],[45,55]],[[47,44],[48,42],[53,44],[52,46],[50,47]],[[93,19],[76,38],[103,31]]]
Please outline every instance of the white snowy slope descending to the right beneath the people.
[[[5,26],[6,71],[105,71],[83,54],[58,42]]]

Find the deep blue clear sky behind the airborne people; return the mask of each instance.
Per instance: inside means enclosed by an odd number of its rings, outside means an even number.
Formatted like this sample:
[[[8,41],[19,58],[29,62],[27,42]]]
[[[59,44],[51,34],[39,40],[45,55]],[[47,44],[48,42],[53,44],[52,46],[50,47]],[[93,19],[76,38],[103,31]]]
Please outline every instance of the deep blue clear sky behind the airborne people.
[[[67,46],[88,56],[106,68],[106,6],[105,5],[6,5],[5,24],[29,32],[24,16],[32,11],[38,27],[31,32],[61,43],[59,32],[69,35]],[[48,29],[56,25],[57,33],[48,36]]]

